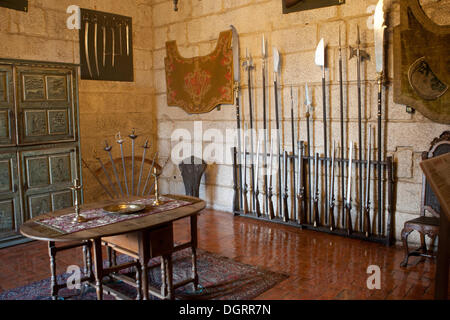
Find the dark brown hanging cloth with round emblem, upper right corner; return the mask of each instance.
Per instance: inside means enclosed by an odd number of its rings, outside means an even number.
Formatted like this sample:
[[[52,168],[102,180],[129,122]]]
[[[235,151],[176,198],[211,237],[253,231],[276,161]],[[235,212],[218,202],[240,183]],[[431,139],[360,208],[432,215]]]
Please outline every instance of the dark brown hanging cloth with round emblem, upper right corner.
[[[400,1],[394,28],[394,102],[450,123],[450,26],[430,20],[418,0]]]

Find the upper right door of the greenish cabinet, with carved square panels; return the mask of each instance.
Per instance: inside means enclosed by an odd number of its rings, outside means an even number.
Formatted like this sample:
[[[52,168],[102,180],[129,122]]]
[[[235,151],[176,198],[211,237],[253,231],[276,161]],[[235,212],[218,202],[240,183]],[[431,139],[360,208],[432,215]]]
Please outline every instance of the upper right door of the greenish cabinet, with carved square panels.
[[[72,70],[17,67],[20,144],[74,141]]]

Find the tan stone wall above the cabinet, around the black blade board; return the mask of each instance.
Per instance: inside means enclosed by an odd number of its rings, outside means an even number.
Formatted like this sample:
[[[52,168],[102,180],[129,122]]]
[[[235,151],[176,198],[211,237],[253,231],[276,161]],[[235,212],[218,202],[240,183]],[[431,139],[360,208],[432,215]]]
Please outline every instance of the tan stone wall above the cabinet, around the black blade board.
[[[66,26],[67,7],[130,16],[133,18],[134,82],[79,80],[80,134],[83,159],[93,167],[93,150],[103,157],[103,141],[114,144],[114,135],[137,134],[155,139],[153,117],[152,7],[135,0],[33,0],[27,13],[0,8],[0,57],[52,62],[80,63],[78,30]],[[103,152],[103,153],[102,153]],[[104,157],[106,159],[106,155]],[[86,201],[99,197],[101,190],[87,170],[83,170]]]

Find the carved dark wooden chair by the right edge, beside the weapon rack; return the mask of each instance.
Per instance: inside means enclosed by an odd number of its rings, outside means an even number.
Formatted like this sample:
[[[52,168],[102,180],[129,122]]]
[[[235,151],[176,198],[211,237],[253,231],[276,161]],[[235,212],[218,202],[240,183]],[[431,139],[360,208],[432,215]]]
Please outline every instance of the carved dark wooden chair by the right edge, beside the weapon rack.
[[[422,160],[429,159],[435,156],[450,152],[450,131],[443,132],[439,138],[436,138],[431,143],[428,151],[422,153]],[[425,242],[425,236],[431,238],[431,249],[437,235],[439,234],[439,216],[440,216],[439,201],[431,189],[430,184],[422,177],[422,199],[420,205],[420,216],[418,218],[406,221],[401,232],[403,246],[405,248],[405,258],[400,264],[401,267],[408,265],[410,256],[434,257],[433,253],[429,253]],[[431,213],[431,216],[426,216],[426,212]],[[421,246],[416,250],[409,251],[408,236],[412,231],[417,231],[420,234]]]

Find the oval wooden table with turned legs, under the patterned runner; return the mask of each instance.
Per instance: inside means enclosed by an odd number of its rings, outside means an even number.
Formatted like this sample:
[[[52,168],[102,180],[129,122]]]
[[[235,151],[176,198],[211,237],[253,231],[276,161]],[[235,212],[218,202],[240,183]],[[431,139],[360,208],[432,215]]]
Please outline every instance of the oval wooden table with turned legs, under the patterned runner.
[[[148,283],[148,267],[147,264],[152,257],[151,247],[152,243],[150,240],[150,233],[155,228],[162,226],[172,226],[172,223],[176,220],[190,217],[191,226],[191,241],[178,245],[174,247],[173,251],[181,250],[184,248],[191,247],[192,249],[192,260],[193,260],[193,271],[195,273],[193,277],[194,286],[198,285],[198,276],[196,275],[196,248],[197,248],[197,214],[205,208],[205,202],[198,198],[179,196],[179,195],[167,195],[170,198],[176,198],[180,200],[186,200],[192,202],[190,205],[182,206],[173,210],[163,211],[160,213],[154,213],[147,216],[125,220],[122,222],[116,222],[109,225],[104,225],[100,227],[95,227],[92,229],[86,229],[83,231],[62,234],[56,230],[53,230],[47,226],[37,223],[36,221],[48,219],[51,217],[61,216],[64,214],[72,213],[73,208],[67,208],[63,210],[58,210],[54,212],[49,212],[34,219],[31,219],[24,223],[20,227],[20,232],[29,238],[36,240],[49,241],[49,243],[54,242],[86,242],[91,241],[93,244],[94,251],[94,277],[95,277],[95,288],[97,291],[97,298],[99,300],[103,297],[103,285],[102,279],[104,276],[112,272],[114,268],[104,268],[103,258],[102,258],[102,238],[131,234],[137,235],[137,248],[138,248],[138,258],[141,266],[141,281],[143,289],[143,299],[147,300],[149,298],[149,283]],[[103,208],[108,204],[113,204],[118,201],[134,201],[142,199],[140,197],[129,197],[119,200],[105,200],[96,203],[90,203],[82,206],[82,211],[86,209],[96,209]],[[172,240],[173,241],[173,240]],[[51,251],[51,250],[49,250]],[[50,257],[52,258],[51,254]],[[171,278],[171,275],[168,275]],[[184,281],[186,282],[186,281]],[[169,290],[171,286],[169,285]],[[53,292],[53,290],[52,290]]]

